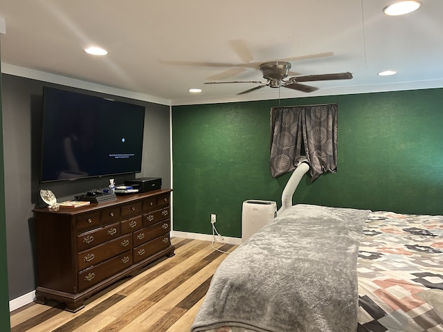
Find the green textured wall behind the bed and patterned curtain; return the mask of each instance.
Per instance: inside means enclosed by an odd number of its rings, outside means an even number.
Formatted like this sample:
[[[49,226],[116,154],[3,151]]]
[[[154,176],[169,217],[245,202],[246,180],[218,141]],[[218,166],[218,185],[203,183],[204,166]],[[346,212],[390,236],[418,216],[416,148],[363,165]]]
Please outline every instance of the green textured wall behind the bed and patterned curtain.
[[[443,89],[280,100],[338,104],[338,167],[300,181],[293,203],[443,214]],[[276,201],[291,174],[269,171],[278,100],[172,107],[174,230],[241,237],[242,202]]]

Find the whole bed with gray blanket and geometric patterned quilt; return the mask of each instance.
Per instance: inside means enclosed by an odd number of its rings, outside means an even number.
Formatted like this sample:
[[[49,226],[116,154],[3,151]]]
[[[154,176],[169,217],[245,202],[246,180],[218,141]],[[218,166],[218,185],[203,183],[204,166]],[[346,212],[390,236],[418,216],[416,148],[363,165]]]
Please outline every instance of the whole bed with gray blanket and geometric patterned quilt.
[[[220,264],[191,331],[443,331],[443,216],[287,208]]]

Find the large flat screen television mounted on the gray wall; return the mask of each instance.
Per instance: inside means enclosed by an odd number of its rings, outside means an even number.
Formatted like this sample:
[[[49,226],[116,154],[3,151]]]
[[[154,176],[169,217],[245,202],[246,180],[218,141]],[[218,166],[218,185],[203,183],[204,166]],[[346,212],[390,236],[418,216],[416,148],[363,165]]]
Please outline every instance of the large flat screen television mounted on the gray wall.
[[[41,182],[141,172],[145,107],[44,86]]]

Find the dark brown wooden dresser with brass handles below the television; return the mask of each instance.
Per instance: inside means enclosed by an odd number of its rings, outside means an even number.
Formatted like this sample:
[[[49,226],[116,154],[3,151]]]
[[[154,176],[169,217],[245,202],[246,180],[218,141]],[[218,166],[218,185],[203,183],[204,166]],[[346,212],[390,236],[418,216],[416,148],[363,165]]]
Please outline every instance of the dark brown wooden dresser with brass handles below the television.
[[[118,196],[81,208],[34,209],[36,302],[56,299],[67,311],[162,256],[172,257],[170,192]]]

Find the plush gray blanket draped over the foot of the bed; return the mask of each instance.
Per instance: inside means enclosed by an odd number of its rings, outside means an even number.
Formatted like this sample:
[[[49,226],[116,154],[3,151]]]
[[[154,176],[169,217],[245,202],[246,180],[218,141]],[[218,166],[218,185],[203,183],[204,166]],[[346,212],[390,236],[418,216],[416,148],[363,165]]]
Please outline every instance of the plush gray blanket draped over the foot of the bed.
[[[191,331],[355,332],[356,258],[369,212],[282,212],[220,264]]]

